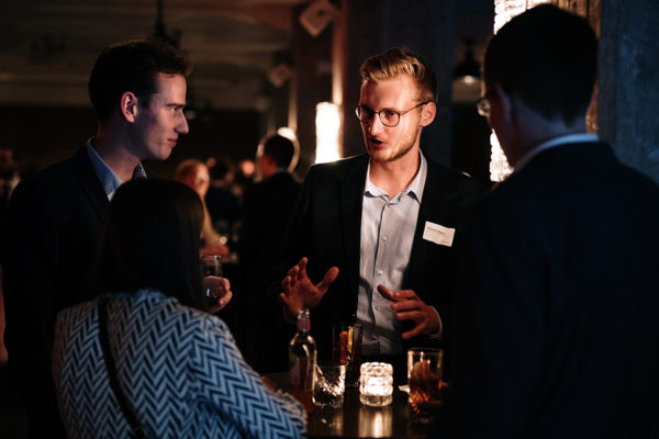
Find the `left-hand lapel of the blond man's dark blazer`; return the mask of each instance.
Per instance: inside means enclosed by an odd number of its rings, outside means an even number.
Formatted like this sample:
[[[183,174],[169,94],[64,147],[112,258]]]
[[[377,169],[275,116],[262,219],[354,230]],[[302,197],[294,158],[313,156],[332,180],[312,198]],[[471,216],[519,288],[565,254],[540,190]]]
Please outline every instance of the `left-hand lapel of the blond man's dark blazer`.
[[[348,285],[359,282],[359,252],[361,243],[361,202],[368,167],[368,155],[362,155],[348,167],[338,180],[338,206],[340,209],[343,244],[345,249]],[[357,294],[355,294],[357,300]]]

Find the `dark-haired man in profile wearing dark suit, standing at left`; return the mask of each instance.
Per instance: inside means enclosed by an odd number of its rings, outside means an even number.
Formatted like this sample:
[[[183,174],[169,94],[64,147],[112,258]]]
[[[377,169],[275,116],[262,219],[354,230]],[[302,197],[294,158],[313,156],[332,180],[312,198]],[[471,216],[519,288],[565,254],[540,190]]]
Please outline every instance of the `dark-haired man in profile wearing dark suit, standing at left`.
[[[12,194],[3,249],[5,340],[32,438],[64,436],[51,375],[55,317],[90,299],[102,216],[114,190],[146,178],[142,160],[166,159],[188,133],[189,71],[182,54],[157,41],[105,49],[89,79],[96,137]]]

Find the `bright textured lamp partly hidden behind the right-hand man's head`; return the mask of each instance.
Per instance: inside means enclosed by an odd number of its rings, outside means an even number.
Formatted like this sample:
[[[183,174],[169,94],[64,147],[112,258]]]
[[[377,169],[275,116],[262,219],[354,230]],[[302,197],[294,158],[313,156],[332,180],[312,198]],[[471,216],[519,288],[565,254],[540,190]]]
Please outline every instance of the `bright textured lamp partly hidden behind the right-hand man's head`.
[[[521,14],[527,9],[534,8],[541,3],[549,3],[548,0],[494,0],[494,33],[501,26],[511,21],[515,15]],[[503,181],[513,171],[505,158],[505,154],[501,149],[499,139],[494,132],[490,135],[490,144],[492,145],[492,155],[490,158],[490,180]]]

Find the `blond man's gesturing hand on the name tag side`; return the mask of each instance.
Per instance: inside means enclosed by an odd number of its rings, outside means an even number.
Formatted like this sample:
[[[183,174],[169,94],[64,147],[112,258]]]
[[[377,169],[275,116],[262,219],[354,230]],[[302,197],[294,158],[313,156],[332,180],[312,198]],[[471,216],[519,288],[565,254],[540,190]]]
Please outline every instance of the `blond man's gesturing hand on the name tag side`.
[[[414,328],[403,333],[403,339],[415,337],[421,333],[436,334],[439,331],[439,316],[432,306],[426,305],[412,290],[391,292],[384,285],[378,285],[382,296],[393,303],[391,309],[398,320],[414,320]]]

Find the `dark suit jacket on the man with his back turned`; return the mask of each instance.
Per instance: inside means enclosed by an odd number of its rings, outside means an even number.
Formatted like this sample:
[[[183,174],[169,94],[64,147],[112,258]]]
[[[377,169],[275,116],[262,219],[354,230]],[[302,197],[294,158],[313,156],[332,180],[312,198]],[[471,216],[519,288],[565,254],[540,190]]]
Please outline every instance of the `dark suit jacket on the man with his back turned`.
[[[473,223],[436,436],[657,438],[657,184],[605,144],[562,145]]]

